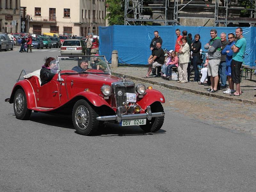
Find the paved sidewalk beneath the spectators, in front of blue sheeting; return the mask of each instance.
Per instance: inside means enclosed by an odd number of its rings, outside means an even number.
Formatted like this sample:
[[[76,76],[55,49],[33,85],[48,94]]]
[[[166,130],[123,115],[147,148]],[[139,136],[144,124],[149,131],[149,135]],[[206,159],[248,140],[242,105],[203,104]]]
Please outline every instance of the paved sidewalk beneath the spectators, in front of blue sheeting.
[[[192,92],[199,95],[206,95],[210,97],[216,97],[223,100],[232,100],[232,101],[238,101],[243,103],[250,103],[250,104],[256,104],[256,97],[254,95],[256,94],[256,90],[254,88],[256,87],[256,83],[254,80],[248,80],[242,77],[241,82],[241,90],[243,91],[242,95],[240,96],[229,96],[228,94],[224,94],[223,91],[225,90],[219,90],[217,93],[208,93],[205,92],[207,89],[210,88],[210,86],[204,86],[199,85],[196,82],[189,82],[189,83],[177,83],[176,81],[168,81],[161,77],[150,77],[150,78],[142,78],[144,75],[146,75],[148,71],[148,68],[146,67],[131,67],[131,66],[120,66],[118,68],[113,68],[112,72],[116,75],[123,76],[125,75],[126,78],[139,80],[151,84],[158,84],[170,89],[178,89],[183,90],[186,92]],[[194,74],[190,76],[190,79],[194,77]],[[252,76],[252,79],[255,79],[255,75]]]

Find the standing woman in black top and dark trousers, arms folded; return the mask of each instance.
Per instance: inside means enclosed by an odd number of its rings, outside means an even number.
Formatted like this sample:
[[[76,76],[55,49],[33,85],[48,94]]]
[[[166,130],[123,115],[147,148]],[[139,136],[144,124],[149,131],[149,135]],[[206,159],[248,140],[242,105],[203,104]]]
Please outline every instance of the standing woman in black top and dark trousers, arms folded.
[[[198,82],[200,79],[197,64],[199,63],[199,60],[200,60],[200,49],[201,49],[202,45],[199,40],[200,40],[200,35],[196,34],[195,41],[191,44],[192,63],[193,63],[194,71],[195,71],[194,82]]]

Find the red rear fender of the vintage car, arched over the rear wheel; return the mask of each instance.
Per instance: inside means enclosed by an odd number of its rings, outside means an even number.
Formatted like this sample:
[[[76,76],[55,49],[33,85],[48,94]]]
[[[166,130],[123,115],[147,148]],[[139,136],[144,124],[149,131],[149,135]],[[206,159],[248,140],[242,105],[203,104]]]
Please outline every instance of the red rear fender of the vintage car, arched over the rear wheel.
[[[11,93],[11,97],[10,97],[10,101],[9,103],[13,103],[14,100],[14,95],[16,90],[18,90],[19,88],[22,88],[23,91],[26,94],[26,98],[27,98],[27,107],[28,109],[34,108],[36,107],[36,97],[35,97],[35,92],[32,88],[32,85],[30,84],[30,82],[25,79],[23,81],[19,81],[17,82],[13,89],[12,89],[12,93]]]

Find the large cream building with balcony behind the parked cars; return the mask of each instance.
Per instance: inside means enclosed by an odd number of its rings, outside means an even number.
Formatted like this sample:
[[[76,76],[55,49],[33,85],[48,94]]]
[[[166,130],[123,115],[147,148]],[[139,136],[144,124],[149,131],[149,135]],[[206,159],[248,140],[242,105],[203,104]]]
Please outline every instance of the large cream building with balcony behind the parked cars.
[[[22,28],[35,34],[98,35],[105,14],[105,0],[20,0]]]

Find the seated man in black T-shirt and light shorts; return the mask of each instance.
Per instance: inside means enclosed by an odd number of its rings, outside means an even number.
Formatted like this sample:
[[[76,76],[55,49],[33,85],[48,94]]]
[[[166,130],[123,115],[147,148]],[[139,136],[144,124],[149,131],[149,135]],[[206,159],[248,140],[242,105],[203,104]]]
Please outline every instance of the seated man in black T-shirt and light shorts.
[[[156,43],[156,50],[152,52],[150,57],[148,58],[148,64],[150,66],[148,67],[148,73],[143,76],[143,78],[149,78],[149,74],[152,71],[152,68],[157,68],[159,66],[162,66],[164,64],[164,50],[161,48],[162,44],[157,42]],[[151,67],[152,65],[152,67]]]

